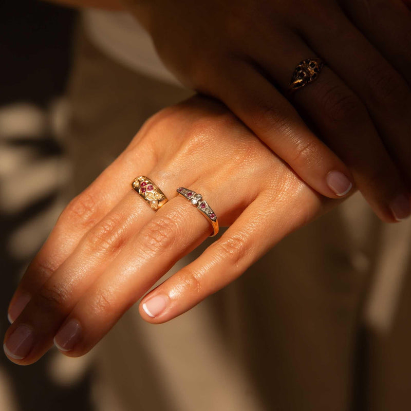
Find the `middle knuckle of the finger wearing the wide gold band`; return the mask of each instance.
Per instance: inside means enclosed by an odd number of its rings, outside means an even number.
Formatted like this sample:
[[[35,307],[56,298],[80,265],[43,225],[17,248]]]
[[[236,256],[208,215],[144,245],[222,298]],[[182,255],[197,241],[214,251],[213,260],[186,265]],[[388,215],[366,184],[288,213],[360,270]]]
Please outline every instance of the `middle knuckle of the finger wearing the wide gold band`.
[[[89,248],[94,251],[116,252],[124,242],[121,215],[111,215],[99,222],[87,235]]]

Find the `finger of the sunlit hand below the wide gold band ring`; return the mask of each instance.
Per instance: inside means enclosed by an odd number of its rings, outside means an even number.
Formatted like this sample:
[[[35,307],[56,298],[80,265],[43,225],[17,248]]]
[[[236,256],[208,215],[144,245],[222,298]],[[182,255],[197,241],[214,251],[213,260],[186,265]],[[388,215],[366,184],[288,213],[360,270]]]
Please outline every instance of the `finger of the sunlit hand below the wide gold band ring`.
[[[32,295],[6,335],[24,324],[26,329],[31,327],[35,331],[31,338],[36,338],[37,344],[41,345],[40,335],[47,330],[54,329],[55,332],[58,329],[70,309],[153,214],[154,211],[147,207],[144,200],[130,190],[113,210],[86,233],[64,263]],[[13,341],[6,341],[8,356],[14,359],[24,357],[22,350],[25,346],[13,346]],[[43,341],[42,353],[50,346],[50,341]],[[34,348],[32,355],[35,356],[39,349]]]

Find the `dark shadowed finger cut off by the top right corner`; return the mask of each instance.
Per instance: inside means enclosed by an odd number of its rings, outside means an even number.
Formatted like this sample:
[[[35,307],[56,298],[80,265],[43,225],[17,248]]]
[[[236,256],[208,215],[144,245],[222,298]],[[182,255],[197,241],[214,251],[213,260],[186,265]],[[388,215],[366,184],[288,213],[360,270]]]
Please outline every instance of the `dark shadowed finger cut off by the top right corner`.
[[[411,86],[411,12],[402,0],[342,3],[350,20]]]

